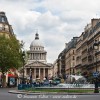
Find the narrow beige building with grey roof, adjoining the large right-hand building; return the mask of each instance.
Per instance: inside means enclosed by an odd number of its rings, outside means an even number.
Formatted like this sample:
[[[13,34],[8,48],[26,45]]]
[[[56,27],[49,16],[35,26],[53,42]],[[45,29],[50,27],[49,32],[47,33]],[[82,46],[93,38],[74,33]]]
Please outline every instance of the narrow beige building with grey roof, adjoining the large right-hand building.
[[[77,39],[78,37],[73,37],[73,39],[67,43],[65,53],[65,66],[67,75],[75,74]]]

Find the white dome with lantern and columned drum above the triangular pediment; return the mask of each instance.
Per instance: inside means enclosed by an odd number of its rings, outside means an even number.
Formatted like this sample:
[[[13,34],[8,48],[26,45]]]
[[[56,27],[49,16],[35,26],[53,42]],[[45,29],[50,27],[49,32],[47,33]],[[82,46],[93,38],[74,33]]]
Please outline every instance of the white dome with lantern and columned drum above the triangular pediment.
[[[39,34],[35,34],[35,40],[30,45],[30,51],[28,52],[29,63],[33,61],[40,61],[46,63],[46,54],[42,42],[39,40]]]

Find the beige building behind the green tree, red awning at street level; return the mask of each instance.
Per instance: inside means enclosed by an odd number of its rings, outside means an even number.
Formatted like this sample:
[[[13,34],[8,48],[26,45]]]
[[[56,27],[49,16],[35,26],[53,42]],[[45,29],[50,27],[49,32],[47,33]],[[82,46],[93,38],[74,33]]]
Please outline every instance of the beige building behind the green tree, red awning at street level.
[[[0,36],[2,36],[2,35],[5,36],[6,38],[15,36],[12,26],[9,24],[5,12],[0,12]],[[7,86],[7,84],[8,84],[8,86],[10,86],[10,85],[16,86],[17,79],[18,79],[18,71],[14,68],[9,69],[9,71],[5,73],[4,78],[5,78],[4,86]],[[13,82],[12,82],[12,80],[13,80]],[[2,73],[0,72],[0,83],[1,83],[1,81],[2,81]]]

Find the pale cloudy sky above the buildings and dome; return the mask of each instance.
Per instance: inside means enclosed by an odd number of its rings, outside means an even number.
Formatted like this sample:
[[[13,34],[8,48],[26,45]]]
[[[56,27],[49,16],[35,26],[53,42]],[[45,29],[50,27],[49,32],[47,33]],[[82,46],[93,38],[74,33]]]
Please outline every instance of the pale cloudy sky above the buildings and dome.
[[[17,38],[25,50],[38,30],[47,51],[47,62],[54,63],[65,43],[80,36],[93,18],[100,17],[100,0],[0,0]]]

